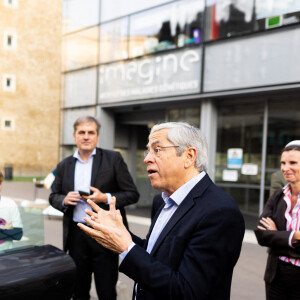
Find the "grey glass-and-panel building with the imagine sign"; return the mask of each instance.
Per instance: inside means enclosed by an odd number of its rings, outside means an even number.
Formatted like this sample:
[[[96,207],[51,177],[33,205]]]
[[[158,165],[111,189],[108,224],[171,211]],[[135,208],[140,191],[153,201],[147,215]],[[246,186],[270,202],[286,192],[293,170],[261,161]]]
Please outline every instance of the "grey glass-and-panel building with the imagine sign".
[[[149,129],[187,121],[209,144],[208,173],[248,222],[262,211],[280,151],[300,138],[297,0],[64,0],[62,156],[72,124],[99,118],[149,206]]]

